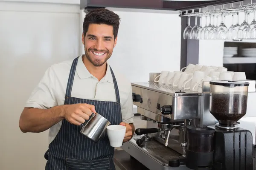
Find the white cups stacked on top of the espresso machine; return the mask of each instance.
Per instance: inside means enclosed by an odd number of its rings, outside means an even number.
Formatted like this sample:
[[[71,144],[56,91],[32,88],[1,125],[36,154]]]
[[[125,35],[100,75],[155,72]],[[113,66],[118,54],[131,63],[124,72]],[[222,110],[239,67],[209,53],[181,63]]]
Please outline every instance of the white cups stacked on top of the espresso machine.
[[[189,64],[180,71],[162,71],[154,82],[202,92],[203,81],[211,80],[244,81],[246,76],[244,72],[227,71],[225,67]]]

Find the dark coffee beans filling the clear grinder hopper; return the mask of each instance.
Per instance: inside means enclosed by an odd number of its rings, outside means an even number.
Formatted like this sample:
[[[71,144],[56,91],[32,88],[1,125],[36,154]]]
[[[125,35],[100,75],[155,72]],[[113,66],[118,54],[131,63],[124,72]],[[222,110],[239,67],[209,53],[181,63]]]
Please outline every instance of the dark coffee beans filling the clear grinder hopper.
[[[210,102],[210,113],[220,125],[233,126],[246,114],[246,95],[212,94]]]

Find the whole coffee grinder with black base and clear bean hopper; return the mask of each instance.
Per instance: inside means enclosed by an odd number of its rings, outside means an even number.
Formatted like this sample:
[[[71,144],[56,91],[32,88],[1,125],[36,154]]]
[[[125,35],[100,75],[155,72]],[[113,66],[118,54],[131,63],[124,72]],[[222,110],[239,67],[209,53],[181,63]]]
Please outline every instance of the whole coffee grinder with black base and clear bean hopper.
[[[238,126],[247,110],[248,82],[211,81],[209,111],[215,126],[187,127],[186,167],[194,170],[253,170],[249,130]]]

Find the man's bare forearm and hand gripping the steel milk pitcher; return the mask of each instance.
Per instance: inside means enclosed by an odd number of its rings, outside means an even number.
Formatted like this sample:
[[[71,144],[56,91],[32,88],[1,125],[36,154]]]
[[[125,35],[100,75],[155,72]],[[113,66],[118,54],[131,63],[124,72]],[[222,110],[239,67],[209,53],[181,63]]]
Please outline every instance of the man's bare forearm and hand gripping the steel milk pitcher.
[[[81,125],[89,119],[92,112],[96,112],[94,106],[86,103],[61,105],[50,109],[24,108],[20,116],[19,126],[23,133],[40,133],[62,119],[66,119],[74,125]]]

